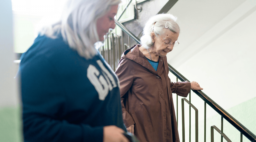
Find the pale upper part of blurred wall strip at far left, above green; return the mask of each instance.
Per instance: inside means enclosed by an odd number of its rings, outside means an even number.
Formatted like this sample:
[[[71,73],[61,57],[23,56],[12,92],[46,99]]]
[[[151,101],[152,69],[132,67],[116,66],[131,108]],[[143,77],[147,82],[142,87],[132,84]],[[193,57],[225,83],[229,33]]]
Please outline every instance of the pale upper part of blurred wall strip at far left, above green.
[[[13,70],[13,30],[11,0],[1,0],[0,8],[0,107],[17,105]]]

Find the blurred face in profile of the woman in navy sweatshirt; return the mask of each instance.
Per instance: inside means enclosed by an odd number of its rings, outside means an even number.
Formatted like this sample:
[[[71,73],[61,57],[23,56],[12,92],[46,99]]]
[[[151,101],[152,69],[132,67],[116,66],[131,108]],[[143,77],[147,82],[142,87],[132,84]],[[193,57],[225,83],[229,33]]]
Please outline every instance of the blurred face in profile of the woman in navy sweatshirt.
[[[99,35],[100,41],[104,40],[104,35],[108,33],[108,29],[115,28],[114,17],[117,13],[118,5],[113,5],[104,16],[97,20],[97,33]]]

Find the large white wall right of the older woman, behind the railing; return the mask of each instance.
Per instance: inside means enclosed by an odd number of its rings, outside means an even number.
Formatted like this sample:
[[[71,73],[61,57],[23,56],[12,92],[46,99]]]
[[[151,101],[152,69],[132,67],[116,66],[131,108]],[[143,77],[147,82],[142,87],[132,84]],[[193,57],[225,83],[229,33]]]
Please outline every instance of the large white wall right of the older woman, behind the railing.
[[[169,13],[178,17],[181,28],[180,45],[167,55],[169,64],[190,81],[197,81],[203,92],[227,111],[256,97],[255,0],[179,0]],[[199,109],[199,121],[204,119],[204,103],[200,101],[193,93],[191,103]],[[251,107],[255,108],[256,104]],[[209,106],[207,111],[208,118],[216,114]],[[193,125],[194,110],[191,112]],[[243,120],[250,121],[252,114],[256,112],[244,113]],[[180,122],[181,119],[182,137]],[[194,129],[192,131],[194,135]],[[210,128],[207,131],[209,133]],[[255,130],[252,132],[256,134]]]

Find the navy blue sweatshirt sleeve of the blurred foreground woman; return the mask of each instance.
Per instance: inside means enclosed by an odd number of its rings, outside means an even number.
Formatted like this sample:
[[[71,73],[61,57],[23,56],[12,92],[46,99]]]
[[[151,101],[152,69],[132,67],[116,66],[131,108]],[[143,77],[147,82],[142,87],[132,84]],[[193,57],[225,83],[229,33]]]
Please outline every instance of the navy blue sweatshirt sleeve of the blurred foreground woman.
[[[20,63],[23,133],[27,142],[102,142],[103,126],[69,123],[60,75],[47,60]],[[86,104],[85,104],[86,105]]]

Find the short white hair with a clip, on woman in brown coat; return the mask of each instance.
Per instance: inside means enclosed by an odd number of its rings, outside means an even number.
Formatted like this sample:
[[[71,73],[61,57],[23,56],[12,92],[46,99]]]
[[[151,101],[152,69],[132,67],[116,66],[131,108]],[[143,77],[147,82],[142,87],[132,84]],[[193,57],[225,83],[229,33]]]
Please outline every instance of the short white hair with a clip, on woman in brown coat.
[[[172,14],[157,14],[151,17],[143,29],[143,35],[140,38],[140,42],[145,49],[149,49],[153,46],[151,32],[154,32],[156,36],[164,34],[164,28],[168,25],[168,29],[173,33],[180,33],[180,27],[175,22],[177,17]]]

